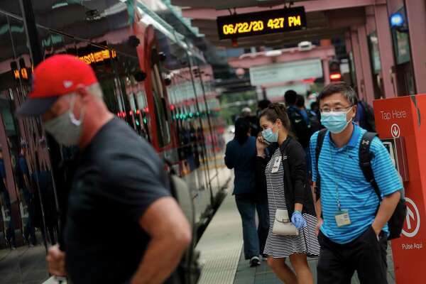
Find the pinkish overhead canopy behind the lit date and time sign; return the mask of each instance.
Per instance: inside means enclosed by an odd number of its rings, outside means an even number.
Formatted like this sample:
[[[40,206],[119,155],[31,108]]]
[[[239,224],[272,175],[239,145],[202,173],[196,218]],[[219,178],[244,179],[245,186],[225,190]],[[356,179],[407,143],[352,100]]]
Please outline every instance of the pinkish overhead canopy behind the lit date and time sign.
[[[217,46],[231,47],[231,40],[219,40],[216,18],[231,13],[251,13],[270,9],[283,9],[284,2],[263,0],[171,0],[173,5],[182,6],[182,15],[190,18],[192,26]],[[303,40],[320,40],[344,35],[351,26],[359,26],[366,21],[365,7],[376,4],[376,0],[307,0],[292,1],[293,6],[304,6],[307,16],[307,29],[271,35],[256,35],[239,38],[239,47],[258,45],[279,46],[299,43]]]

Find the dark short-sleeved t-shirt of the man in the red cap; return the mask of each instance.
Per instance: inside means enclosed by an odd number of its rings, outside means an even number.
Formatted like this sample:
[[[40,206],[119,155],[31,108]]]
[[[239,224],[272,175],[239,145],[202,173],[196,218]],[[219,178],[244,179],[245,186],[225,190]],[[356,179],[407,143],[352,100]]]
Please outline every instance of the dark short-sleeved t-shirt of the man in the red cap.
[[[151,145],[112,119],[81,154],[65,226],[67,271],[73,283],[125,283],[150,237],[139,220],[170,196],[164,166]]]

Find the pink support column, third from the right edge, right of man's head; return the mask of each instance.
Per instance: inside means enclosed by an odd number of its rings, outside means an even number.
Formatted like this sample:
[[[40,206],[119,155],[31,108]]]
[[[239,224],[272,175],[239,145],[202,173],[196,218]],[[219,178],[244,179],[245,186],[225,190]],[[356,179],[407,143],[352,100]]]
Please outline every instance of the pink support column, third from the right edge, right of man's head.
[[[364,75],[364,98],[370,104],[374,100],[373,75],[371,72],[370,52],[368,50],[366,26],[358,27],[359,50]]]

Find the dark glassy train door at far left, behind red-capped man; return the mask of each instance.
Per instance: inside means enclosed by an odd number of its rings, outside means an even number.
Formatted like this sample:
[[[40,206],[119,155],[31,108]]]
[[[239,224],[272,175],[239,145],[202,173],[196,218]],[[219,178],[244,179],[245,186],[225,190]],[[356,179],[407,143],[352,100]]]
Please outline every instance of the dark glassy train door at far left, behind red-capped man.
[[[14,114],[30,92],[33,69],[23,23],[0,13],[0,24],[0,282],[43,283],[47,247],[58,241],[58,202],[40,120]],[[45,46],[49,54],[52,41]]]

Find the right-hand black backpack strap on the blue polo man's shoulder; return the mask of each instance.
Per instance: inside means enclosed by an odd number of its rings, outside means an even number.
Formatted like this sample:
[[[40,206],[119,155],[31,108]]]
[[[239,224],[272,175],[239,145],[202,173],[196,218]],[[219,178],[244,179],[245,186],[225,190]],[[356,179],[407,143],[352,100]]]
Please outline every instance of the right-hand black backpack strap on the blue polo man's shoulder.
[[[373,168],[371,168],[371,159],[373,154],[370,152],[370,145],[373,138],[377,136],[377,133],[366,132],[361,138],[361,144],[359,145],[359,167],[364,174],[364,178],[371,183],[371,186],[376,192],[378,200],[381,201],[381,194],[378,188],[377,182],[374,179]]]

